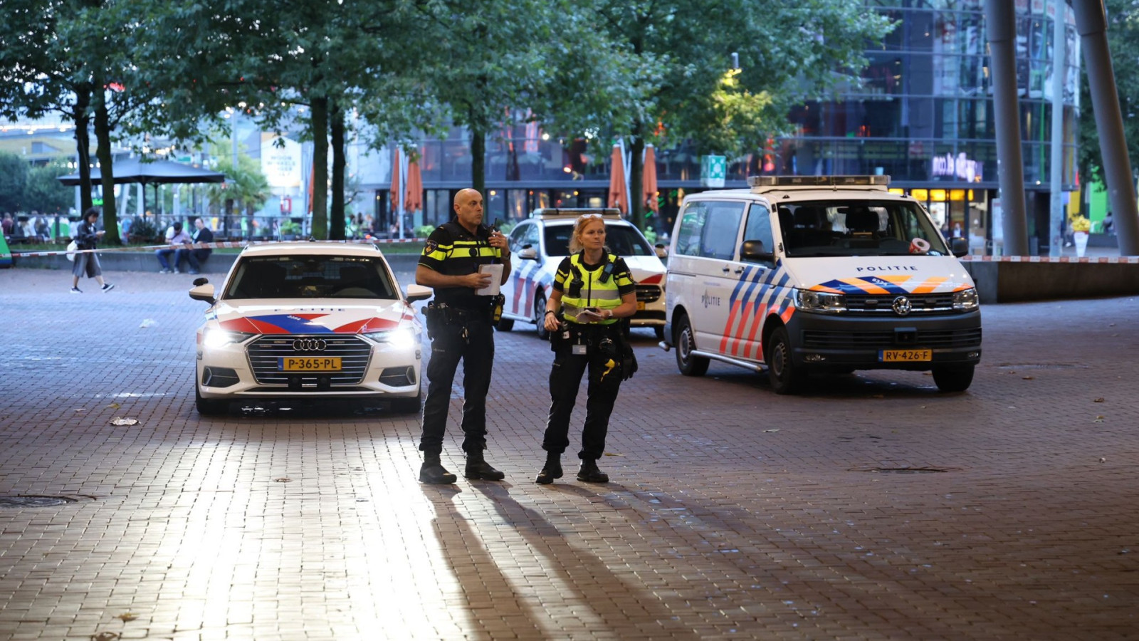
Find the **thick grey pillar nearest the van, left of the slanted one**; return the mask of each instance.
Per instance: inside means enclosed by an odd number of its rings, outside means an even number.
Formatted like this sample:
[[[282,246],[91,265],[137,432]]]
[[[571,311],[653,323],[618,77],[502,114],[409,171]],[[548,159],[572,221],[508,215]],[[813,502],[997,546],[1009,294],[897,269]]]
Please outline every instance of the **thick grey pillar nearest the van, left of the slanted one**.
[[[1019,100],[1016,88],[1015,0],[985,2],[985,31],[992,70],[993,120],[997,124],[997,176],[1000,181],[1005,253],[1027,255],[1029,222],[1024,203]]]

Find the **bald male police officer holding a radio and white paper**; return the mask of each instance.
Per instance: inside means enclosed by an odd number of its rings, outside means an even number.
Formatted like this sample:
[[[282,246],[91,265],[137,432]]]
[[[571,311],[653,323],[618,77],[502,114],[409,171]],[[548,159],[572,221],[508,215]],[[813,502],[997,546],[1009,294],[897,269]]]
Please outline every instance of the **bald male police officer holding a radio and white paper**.
[[[486,462],[486,392],[494,363],[494,306],[501,297],[480,290],[493,289],[490,269],[502,265],[499,285],[510,274],[510,250],[498,230],[483,225],[483,196],[476,189],[454,195],[454,219],[432,232],[416,267],[416,283],[435,290],[427,306],[427,332],[432,339],[427,364],[427,400],[424,401],[423,437],[419,449],[424,463],[419,480],[451,484],[456,477],[443,468],[443,432],[454,371],[462,360],[462,451],[467,455],[468,479],[502,480],[506,474]]]

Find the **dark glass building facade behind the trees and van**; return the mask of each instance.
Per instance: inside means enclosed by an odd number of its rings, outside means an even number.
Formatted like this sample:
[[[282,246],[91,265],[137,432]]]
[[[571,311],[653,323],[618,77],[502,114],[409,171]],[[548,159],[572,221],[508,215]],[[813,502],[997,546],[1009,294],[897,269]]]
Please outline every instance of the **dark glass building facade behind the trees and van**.
[[[788,114],[792,133],[768,148],[730,159],[726,187],[747,177],[885,173],[892,187],[924,202],[947,233],[984,248],[989,208],[997,197],[997,144],[982,0],[868,0],[896,23],[868,49],[868,66],[828,99],[806,102]],[[1050,197],[1052,51],[1055,19],[1064,21],[1063,184],[1076,177],[1079,38],[1063,0],[1017,0],[1016,59],[1029,233],[1046,246]],[[524,114],[517,114],[524,115]],[[604,206],[609,156],[584,140],[558,138],[536,123],[495,131],[486,152],[487,219],[521,219],[540,206]],[[407,226],[435,225],[451,216],[451,197],[469,185],[468,135],[421,140],[424,210]],[[685,146],[657,149],[661,216],[671,219],[683,194],[702,190],[700,157]],[[391,222],[387,193],[376,192],[377,228]],[[383,225],[383,227],[380,226]],[[1036,246],[1036,245],[1034,245]]]

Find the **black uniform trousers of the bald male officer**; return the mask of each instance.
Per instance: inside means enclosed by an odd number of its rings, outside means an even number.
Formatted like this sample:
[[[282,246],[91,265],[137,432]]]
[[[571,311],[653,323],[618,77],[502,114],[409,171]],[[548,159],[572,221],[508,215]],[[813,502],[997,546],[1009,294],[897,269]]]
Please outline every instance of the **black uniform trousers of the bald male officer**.
[[[462,439],[464,452],[486,448],[486,392],[494,365],[494,328],[490,311],[467,311],[466,318],[440,323],[431,343],[427,363],[427,400],[424,401],[424,433],[419,449],[426,454],[443,451],[443,432],[451,404],[454,371],[462,360]],[[466,336],[464,336],[466,330]]]

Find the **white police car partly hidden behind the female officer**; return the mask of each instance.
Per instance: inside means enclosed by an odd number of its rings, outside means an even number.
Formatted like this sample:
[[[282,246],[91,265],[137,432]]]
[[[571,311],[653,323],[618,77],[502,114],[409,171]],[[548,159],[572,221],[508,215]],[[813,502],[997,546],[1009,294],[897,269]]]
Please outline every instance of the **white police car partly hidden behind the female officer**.
[[[630,326],[652,327],[657,339],[663,338],[664,263],[640,229],[622,219],[616,209],[540,209],[510,230],[514,270],[501,289],[506,301],[498,328],[509,332],[515,320],[534,323],[539,338],[547,338],[542,319],[554,276],[570,253],[574,221],[587,213],[600,214],[605,220],[605,244],[625,260],[637,282],[637,314],[629,319]]]

